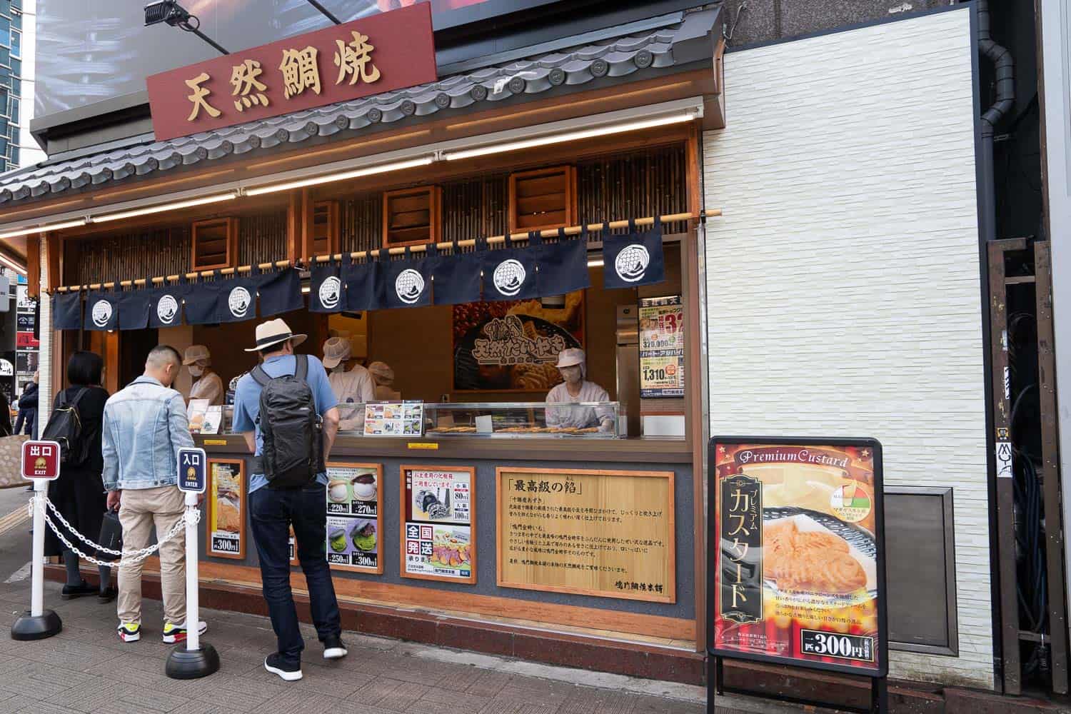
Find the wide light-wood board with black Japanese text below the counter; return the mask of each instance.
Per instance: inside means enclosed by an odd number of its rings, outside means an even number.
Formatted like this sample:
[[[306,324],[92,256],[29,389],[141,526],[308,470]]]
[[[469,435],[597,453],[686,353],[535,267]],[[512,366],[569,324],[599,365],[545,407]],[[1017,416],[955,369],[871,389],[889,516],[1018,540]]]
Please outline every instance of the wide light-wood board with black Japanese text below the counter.
[[[499,587],[676,602],[673,471],[497,476]]]

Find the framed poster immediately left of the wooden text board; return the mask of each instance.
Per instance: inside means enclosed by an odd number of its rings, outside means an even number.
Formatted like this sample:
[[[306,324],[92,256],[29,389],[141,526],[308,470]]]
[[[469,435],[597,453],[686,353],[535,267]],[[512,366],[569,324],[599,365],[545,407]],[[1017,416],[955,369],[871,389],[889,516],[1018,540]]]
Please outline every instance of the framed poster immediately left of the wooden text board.
[[[476,582],[476,469],[403,466],[402,577]]]

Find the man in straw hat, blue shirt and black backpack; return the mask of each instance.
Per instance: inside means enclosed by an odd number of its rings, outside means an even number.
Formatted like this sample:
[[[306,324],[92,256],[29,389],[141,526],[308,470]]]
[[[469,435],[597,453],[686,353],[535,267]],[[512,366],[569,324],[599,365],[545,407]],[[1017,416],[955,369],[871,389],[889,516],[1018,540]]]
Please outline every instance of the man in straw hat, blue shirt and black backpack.
[[[289,533],[308,583],[308,603],[323,657],[346,656],[334,583],[327,563],[327,469],[338,431],[338,408],[323,364],[295,355],[305,341],[286,322],[257,325],[256,346],[263,363],[244,375],[235,391],[235,430],[241,431],[256,461],[250,478],[250,522],[260,559],[260,580],[277,651],[265,669],[287,682],[301,679],[305,643],[290,591]]]

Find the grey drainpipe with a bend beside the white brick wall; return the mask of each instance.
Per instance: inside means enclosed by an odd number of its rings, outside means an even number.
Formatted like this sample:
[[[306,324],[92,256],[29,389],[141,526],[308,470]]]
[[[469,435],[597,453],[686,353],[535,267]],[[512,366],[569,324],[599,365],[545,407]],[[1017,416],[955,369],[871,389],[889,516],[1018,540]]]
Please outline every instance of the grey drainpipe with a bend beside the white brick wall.
[[[990,2],[976,0],[978,10],[978,49],[993,62],[996,73],[997,97],[982,115],[982,225],[983,241],[997,239],[997,204],[995,179],[993,176],[993,134],[1000,120],[1015,106],[1015,60],[1006,47],[1001,47],[990,35]]]

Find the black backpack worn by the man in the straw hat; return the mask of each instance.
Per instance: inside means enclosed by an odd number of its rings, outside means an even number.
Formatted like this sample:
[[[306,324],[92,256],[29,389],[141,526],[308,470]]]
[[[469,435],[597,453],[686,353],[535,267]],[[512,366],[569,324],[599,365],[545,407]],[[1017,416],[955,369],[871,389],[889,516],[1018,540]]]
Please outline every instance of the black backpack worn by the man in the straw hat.
[[[308,356],[295,355],[293,375],[269,377],[258,365],[253,379],[261,386],[257,424],[263,449],[260,466],[269,488],[301,488],[323,472],[323,420],[305,378]]]

